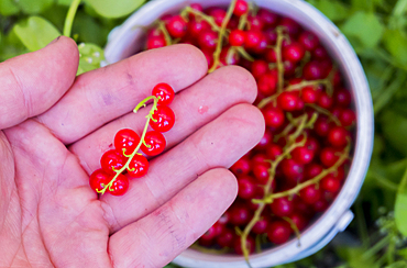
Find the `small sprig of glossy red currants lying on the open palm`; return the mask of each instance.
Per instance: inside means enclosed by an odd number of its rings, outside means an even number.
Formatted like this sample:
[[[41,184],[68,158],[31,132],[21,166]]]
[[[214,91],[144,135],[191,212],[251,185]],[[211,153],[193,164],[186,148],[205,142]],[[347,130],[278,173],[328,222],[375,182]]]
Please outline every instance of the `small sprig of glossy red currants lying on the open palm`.
[[[139,103],[134,112],[145,107],[146,102],[154,101],[146,116],[147,122],[143,134],[140,137],[130,129],[121,130],[116,134],[114,149],[102,155],[101,169],[90,175],[89,183],[96,192],[123,196],[129,190],[128,177],[141,178],[147,174],[148,160],[145,156],[156,156],[163,153],[166,141],[162,132],[167,132],[174,126],[175,114],[168,107],[174,96],[174,90],[169,85],[158,83],[154,87],[152,96]],[[153,129],[152,131],[147,131],[148,125]]]

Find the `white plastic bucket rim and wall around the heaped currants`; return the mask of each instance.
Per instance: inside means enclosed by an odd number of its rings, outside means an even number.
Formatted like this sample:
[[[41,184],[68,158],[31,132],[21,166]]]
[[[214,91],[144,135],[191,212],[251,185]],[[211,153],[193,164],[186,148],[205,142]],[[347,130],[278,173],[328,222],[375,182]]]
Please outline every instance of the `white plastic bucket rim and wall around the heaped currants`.
[[[141,26],[151,25],[166,13],[176,13],[184,7],[199,2],[204,7],[228,5],[230,0],[153,0],[112,31],[106,47],[108,64],[133,55],[143,46]],[[300,246],[293,238],[288,243],[251,255],[253,267],[271,267],[305,258],[326,246],[353,219],[350,206],[365,177],[373,148],[373,107],[366,77],[348,40],[337,26],[312,5],[301,0],[255,0],[258,7],[290,16],[316,33],[331,57],[339,64],[354,100],[358,116],[353,161],[345,183],[330,208],[301,234]],[[246,268],[244,258],[235,255],[211,255],[187,249],[174,263],[184,267]]]

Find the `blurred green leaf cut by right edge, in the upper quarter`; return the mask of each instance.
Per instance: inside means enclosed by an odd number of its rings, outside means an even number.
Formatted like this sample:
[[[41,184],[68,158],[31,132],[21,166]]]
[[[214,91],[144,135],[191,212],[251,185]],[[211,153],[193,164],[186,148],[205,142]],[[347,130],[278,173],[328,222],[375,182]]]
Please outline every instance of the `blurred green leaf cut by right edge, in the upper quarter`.
[[[392,56],[407,66],[407,35],[400,30],[387,30],[383,36],[383,44]]]

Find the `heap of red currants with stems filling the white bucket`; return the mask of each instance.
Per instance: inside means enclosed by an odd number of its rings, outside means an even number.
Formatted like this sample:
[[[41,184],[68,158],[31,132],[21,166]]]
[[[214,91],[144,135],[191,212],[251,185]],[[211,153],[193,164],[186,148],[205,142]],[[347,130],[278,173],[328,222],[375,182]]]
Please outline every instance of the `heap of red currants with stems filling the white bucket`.
[[[190,4],[155,25],[147,49],[188,43],[204,52],[209,72],[227,65],[250,70],[267,126],[231,167],[237,201],[198,244],[248,257],[255,245],[299,236],[340,191],[356,123],[352,96],[317,35],[244,0],[228,10]]]

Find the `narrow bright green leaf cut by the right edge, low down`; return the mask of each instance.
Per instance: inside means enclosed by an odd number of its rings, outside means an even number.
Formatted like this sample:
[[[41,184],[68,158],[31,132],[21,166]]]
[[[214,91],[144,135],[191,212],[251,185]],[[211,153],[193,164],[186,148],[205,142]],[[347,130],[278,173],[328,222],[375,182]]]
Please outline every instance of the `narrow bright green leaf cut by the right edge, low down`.
[[[407,169],[403,176],[402,182],[398,186],[396,204],[394,206],[394,217],[398,231],[407,236]]]

